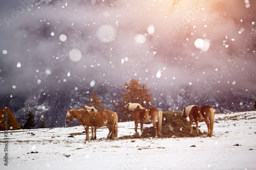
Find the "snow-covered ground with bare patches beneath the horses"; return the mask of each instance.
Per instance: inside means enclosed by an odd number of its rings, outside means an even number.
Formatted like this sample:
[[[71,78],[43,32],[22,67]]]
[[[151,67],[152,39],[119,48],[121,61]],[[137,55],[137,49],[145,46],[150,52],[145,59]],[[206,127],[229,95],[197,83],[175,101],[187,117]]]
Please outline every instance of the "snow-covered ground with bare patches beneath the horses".
[[[85,135],[68,137],[81,126],[9,131],[8,167],[0,133],[0,169],[256,169],[256,112],[216,114],[216,121],[211,138],[110,141],[101,128],[98,139],[85,143]],[[134,122],[118,126],[119,137],[134,134]]]

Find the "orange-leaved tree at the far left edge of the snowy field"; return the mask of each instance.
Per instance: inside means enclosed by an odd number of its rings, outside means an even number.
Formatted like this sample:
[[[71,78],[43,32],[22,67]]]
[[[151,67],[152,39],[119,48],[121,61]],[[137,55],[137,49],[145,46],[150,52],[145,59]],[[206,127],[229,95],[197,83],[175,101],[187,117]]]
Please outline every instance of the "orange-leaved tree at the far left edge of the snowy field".
[[[13,112],[8,107],[2,105],[0,107],[0,131],[17,130],[19,128],[20,125]]]

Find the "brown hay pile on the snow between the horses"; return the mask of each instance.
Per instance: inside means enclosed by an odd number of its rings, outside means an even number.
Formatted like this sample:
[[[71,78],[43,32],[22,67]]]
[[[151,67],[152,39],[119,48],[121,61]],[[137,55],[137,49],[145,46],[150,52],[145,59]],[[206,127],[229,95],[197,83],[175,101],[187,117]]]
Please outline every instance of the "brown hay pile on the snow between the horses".
[[[140,132],[140,124],[138,126],[138,132]],[[165,111],[163,112],[163,121],[162,121],[162,136],[161,138],[170,138],[170,137],[195,137],[196,128],[193,127],[192,136],[190,133],[190,125],[187,119],[184,119],[181,111]],[[199,134],[202,135],[200,129]],[[121,138],[124,139],[133,139],[133,138],[148,138],[155,137],[155,129],[153,124],[149,128],[143,128],[142,134],[139,136],[138,134],[132,136],[123,136]]]

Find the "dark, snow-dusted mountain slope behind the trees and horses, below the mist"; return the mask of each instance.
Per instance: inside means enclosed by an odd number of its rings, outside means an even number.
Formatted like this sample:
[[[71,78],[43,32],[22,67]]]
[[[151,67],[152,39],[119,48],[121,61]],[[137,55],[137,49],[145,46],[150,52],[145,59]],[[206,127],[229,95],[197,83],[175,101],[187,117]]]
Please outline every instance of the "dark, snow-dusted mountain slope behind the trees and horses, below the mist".
[[[7,95],[0,96],[1,105],[10,108],[16,116],[20,125],[26,123],[25,118],[29,111],[35,116],[37,127],[40,120],[45,120],[48,128],[64,127],[67,109],[81,109],[82,105],[88,104],[92,90],[95,89],[100,96],[106,109],[114,110],[112,101],[120,100],[120,89],[111,87],[69,87],[62,90],[39,90],[31,95]],[[256,100],[255,94],[246,94],[238,91],[218,92],[217,94],[204,94],[201,96],[189,93],[189,89],[181,88],[179,92],[172,96],[164,93],[154,93],[152,107],[159,110],[182,110],[183,106],[189,105],[211,105],[216,109],[216,113],[228,113],[253,110]],[[118,113],[118,115],[123,115]],[[119,117],[125,120],[125,117]]]

